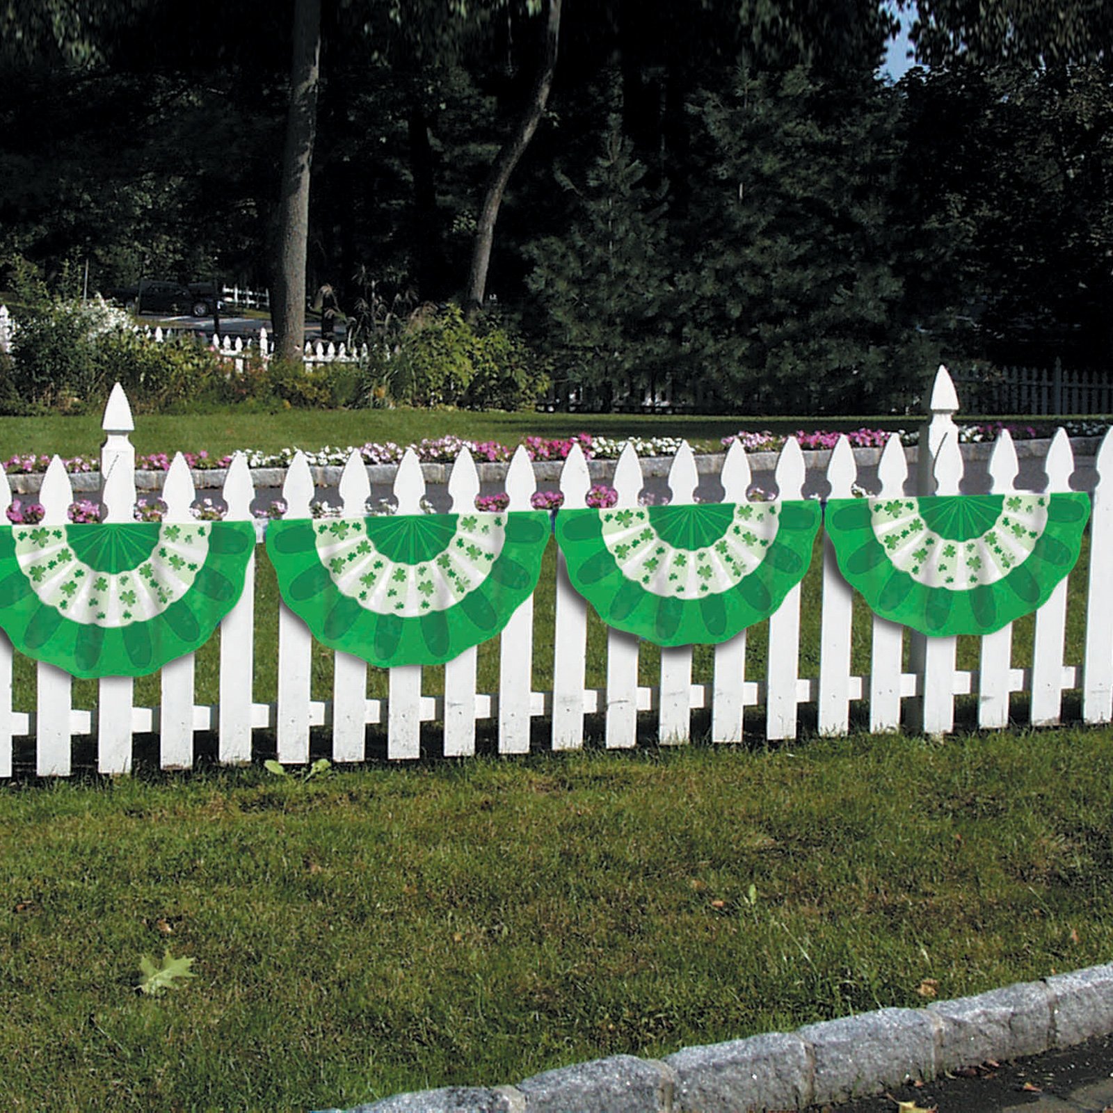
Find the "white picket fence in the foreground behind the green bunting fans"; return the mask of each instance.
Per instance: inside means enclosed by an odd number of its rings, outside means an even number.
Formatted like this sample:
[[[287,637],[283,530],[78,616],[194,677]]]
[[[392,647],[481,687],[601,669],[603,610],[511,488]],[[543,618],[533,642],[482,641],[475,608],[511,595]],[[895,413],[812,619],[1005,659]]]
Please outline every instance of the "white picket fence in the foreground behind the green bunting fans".
[[[892,437],[879,464],[880,493],[906,490],[957,493],[963,459],[953,415],[958,407],[954,386],[940,368],[932,398],[932,417],[925,425],[918,474],[909,479],[905,454]],[[128,521],[135,502],[135,453],[129,441],[134,425],[124,393],[114,391],[106,408],[107,440],[101,452],[101,474],[107,476],[102,501],[107,521]],[[934,464],[934,467],[933,467]],[[1071,443],[1060,430],[1044,462],[1048,491],[1068,490],[1074,471]],[[551,689],[534,687],[534,599],[528,599],[501,634],[499,683],[495,692],[480,692],[476,684],[477,650],[471,649],[444,668],[444,696],[423,692],[420,666],[390,670],[387,696],[368,698],[368,666],[358,658],[334,654],[331,698],[314,699],[311,691],[312,637],[305,626],[279,603],[277,649],[277,699],[259,701],[253,692],[255,643],[255,559],[247,569],[247,587],[239,603],[220,627],[219,699],[215,706],[195,700],[193,657],[174,661],[161,670],[160,703],[137,707],[134,681],[109,678],[98,681],[92,709],[72,703],[70,677],[49,664],[38,663],[36,707],[12,709],[13,651],[0,637],[0,777],[13,771],[13,741],[33,741],[35,768],[41,776],[66,776],[71,771],[75,739],[93,736],[97,767],[101,772],[126,772],[132,760],[134,738],[157,735],[159,761],[165,768],[188,767],[195,759],[195,736],[216,732],[218,757],[224,762],[247,761],[256,731],[273,731],[278,759],[304,764],[309,757],[311,729],[324,728],[335,761],[359,761],[368,752],[368,727],[385,727],[386,756],[416,758],[422,747],[422,725],[440,722],[443,752],[462,757],[476,750],[476,725],[496,723],[498,751],[524,754],[531,749],[535,722],[543,723],[546,746],[553,750],[584,745],[589,716],[601,717],[607,747],[637,743],[639,716],[654,720],[661,742],[687,741],[692,733],[692,712],[710,711],[711,738],[716,742],[742,739],[747,708],[765,708],[765,736],[794,738],[801,708],[811,705],[823,732],[841,733],[850,723],[850,705],[868,701],[869,725],[875,731],[896,729],[902,721],[929,733],[954,728],[955,697],[977,696],[977,720],[982,727],[999,728],[1008,722],[1009,696],[1030,693],[1031,721],[1051,725],[1060,720],[1064,692],[1081,690],[1086,722],[1113,718],[1113,433],[1106,435],[1096,457],[1097,485],[1091,519],[1090,573],[1086,584],[1085,637],[1082,661],[1064,661],[1067,582],[1036,613],[1031,667],[1012,663],[1013,634],[1005,628],[981,639],[977,669],[956,667],[956,639],[925,639],[905,628],[870,617],[871,656],[868,674],[851,669],[853,592],[840,575],[829,541],[824,542],[818,676],[800,676],[800,587],[789,592],[768,622],[768,667],[764,674],[747,674],[747,631],[713,649],[713,674],[709,683],[693,682],[692,649],[663,649],[658,682],[639,680],[642,647],[637,638],[608,630],[605,683],[585,683],[588,605],[569,583],[563,559],[556,559],[555,620],[539,638],[553,649]],[[934,472],[934,475],[933,475]],[[993,490],[1012,492],[1017,460],[1007,434],[996,443],[989,462]],[[847,498],[857,480],[854,453],[846,439],[834,450],[827,467],[831,498]],[[686,445],[677,453],[669,474],[674,502],[691,502],[697,485],[696,461]],[[725,501],[743,501],[750,470],[741,446],[732,445],[720,474]],[[805,461],[796,441],[780,454],[776,482],[785,499],[801,498]],[[906,483],[908,484],[906,486]],[[591,481],[587,461],[574,449],[563,467],[560,487],[564,505],[584,505]],[[638,456],[628,447],[618,462],[614,487],[619,505],[636,505],[642,487]],[[526,510],[536,490],[532,465],[519,449],[510,466],[506,490],[511,510]],[[479,493],[479,475],[465,450],[453,466],[449,491],[452,509],[471,508]],[[425,482],[416,456],[406,454],[397,469],[394,494],[402,513],[417,513]],[[381,494],[382,492],[376,492]],[[224,486],[229,520],[250,519],[254,498],[246,460],[238,455]],[[314,494],[313,479],[304,456],[289,469],[284,498],[288,514],[308,516]],[[339,494],[343,512],[359,515],[371,495],[367,470],[353,453],[344,470]],[[164,499],[168,518],[189,520],[195,491],[189,470],[177,456],[167,475]],[[45,479],[40,500],[50,524],[66,522],[72,501],[69,476],[56,459]],[[10,495],[7,479],[0,479],[0,502]],[[1077,575],[1080,573],[1075,573]],[[903,667],[905,639],[909,638],[910,668]],[[535,745],[535,742],[534,742]],[[26,749],[26,743],[24,743]]]

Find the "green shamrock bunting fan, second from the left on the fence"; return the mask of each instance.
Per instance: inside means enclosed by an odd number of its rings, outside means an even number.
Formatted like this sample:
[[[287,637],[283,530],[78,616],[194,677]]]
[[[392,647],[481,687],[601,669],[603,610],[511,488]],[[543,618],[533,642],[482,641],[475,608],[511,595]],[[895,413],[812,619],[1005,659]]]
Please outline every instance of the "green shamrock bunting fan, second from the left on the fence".
[[[543,511],[295,519],[267,528],[286,605],[371,664],[443,664],[499,633],[533,593]]]

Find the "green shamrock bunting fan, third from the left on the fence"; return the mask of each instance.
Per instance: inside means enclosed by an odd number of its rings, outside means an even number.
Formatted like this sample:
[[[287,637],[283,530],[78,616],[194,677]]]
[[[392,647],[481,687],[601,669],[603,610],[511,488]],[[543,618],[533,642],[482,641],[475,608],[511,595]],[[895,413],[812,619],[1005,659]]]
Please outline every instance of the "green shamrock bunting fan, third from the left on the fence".
[[[572,585],[617,630],[658,646],[726,641],[800,582],[819,503],[702,503],[562,510]]]

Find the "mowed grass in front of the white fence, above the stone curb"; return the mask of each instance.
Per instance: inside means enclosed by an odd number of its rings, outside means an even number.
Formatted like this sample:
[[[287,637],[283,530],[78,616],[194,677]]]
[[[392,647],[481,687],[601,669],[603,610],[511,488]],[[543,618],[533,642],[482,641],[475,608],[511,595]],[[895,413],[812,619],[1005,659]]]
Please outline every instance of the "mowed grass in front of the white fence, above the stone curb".
[[[0,1106],[344,1106],[1106,962],[1111,779],[1061,729],[9,786]]]

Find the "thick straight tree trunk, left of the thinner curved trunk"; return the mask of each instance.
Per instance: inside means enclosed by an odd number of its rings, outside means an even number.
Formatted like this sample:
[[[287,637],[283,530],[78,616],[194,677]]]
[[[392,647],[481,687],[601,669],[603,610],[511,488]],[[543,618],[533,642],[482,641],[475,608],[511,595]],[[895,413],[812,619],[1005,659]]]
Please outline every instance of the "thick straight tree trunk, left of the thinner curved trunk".
[[[321,0],[294,2],[294,53],[282,159],[277,250],[270,308],[275,354],[298,359],[305,342],[305,254],[309,238],[309,168],[317,130],[321,76]]]

